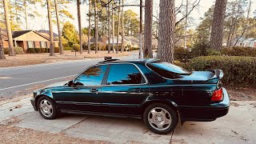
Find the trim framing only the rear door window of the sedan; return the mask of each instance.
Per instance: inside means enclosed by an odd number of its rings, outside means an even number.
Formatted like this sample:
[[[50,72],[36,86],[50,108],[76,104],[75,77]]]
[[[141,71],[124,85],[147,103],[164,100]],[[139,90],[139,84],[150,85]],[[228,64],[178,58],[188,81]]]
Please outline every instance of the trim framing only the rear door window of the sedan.
[[[139,84],[120,84],[120,85],[106,85],[106,83],[104,84],[104,85],[102,85],[102,86],[141,86],[141,85],[146,85],[146,84],[148,84],[148,81],[147,81],[147,79],[146,79],[146,76],[142,73],[142,70],[140,70],[139,68],[138,68],[138,66],[136,66],[134,63],[130,63],[130,62],[120,62],[120,63],[108,63],[109,64],[109,66],[110,65],[113,65],[113,64],[115,64],[115,65],[120,65],[120,64],[129,64],[129,65],[134,65],[135,66],[135,68],[138,70],[138,72],[140,73],[140,74],[142,74],[142,78],[144,78],[145,79],[145,83],[139,83]],[[110,68],[111,68],[111,66],[110,66]],[[106,82],[107,82],[107,78],[109,77],[109,74],[110,74],[110,68],[109,68],[109,70],[108,70],[108,73],[107,73],[107,76],[106,76]]]

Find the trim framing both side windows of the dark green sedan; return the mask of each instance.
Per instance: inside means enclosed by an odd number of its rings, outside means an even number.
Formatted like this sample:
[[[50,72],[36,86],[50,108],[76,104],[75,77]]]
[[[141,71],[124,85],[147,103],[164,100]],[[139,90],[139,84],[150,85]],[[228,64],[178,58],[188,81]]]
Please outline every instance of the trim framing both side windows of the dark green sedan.
[[[145,79],[145,83],[140,83],[140,84],[121,84],[121,85],[106,85],[106,83],[103,83],[103,82],[106,82],[107,81],[107,78],[109,76],[109,71],[110,71],[110,65],[112,64],[131,64],[131,65],[134,65],[140,74],[142,74],[142,77]],[[131,63],[131,62],[119,62],[119,63],[98,63],[98,64],[95,64],[95,65],[92,65],[92,66],[107,66],[106,68],[106,72],[102,78],[102,85],[88,85],[88,86],[70,86],[70,87],[102,87],[102,86],[142,86],[142,85],[147,85],[149,84],[145,74],[142,73],[142,70],[139,69],[139,67],[137,65],[135,65],[134,63]],[[89,66],[87,67],[85,70],[82,70],[81,73],[79,73],[72,81],[74,82],[76,78],[78,78],[79,75],[81,75],[83,72],[85,72],[86,70],[90,69],[90,67],[92,66]],[[106,75],[107,74],[107,75]],[[106,78],[106,79],[104,79]]]

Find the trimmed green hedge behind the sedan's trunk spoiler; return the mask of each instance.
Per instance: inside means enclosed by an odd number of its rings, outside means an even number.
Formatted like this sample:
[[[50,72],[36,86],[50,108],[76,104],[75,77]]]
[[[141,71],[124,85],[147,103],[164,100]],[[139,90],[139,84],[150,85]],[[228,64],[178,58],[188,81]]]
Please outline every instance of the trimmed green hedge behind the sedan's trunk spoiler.
[[[256,58],[238,56],[202,56],[191,59],[189,70],[222,69],[222,82],[229,86],[256,87]]]

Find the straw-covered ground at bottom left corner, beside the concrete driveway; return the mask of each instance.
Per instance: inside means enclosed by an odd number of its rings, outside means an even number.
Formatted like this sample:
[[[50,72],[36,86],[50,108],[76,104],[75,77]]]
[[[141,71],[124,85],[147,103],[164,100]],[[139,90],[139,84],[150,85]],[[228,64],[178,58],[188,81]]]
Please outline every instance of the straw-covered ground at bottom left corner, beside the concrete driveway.
[[[0,141],[1,143],[95,143],[103,144],[110,142],[90,141],[82,138],[72,138],[65,134],[51,134],[38,130],[23,129],[16,126],[0,125]]]

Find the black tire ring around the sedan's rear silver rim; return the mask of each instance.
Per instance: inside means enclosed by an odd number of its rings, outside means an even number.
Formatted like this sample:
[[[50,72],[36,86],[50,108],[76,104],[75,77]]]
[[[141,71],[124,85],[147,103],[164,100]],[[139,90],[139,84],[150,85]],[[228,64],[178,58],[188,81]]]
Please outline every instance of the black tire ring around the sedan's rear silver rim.
[[[148,113],[154,107],[162,107],[170,113],[170,117],[172,119],[172,122],[171,122],[171,125],[168,129],[166,129],[166,130],[156,130],[156,129],[154,129],[154,127],[150,126],[150,122],[148,122]],[[147,106],[146,109],[144,110],[143,121],[144,121],[145,125],[151,131],[153,131],[154,133],[156,133],[156,134],[169,134],[171,131],[173,131],[175,129],[175,127],[178,124],[178,116],[177,115],[178,115],[177,112],[174,111],[170,106],[167,106],[166,104],[163,104],[163,103],[154,103],[154,104],[151,104],[150,106]]]

